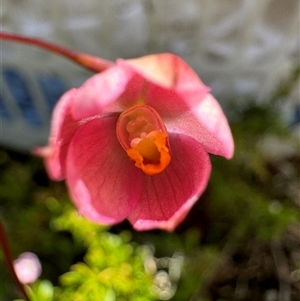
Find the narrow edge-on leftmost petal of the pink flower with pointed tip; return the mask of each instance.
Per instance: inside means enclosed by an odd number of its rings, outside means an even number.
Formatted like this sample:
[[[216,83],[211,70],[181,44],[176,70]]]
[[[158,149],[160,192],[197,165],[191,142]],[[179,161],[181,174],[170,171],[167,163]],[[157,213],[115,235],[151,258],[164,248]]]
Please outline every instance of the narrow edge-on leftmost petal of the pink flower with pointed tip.
[[[44,157],[48,175],[52,180],[59,181],[65,178],[65,160],[69,143],[80,126],[70,113],[76,94],[77,90],[72,89],[61,97],[53,111],[48,146],[34,151],[36,155]]]

